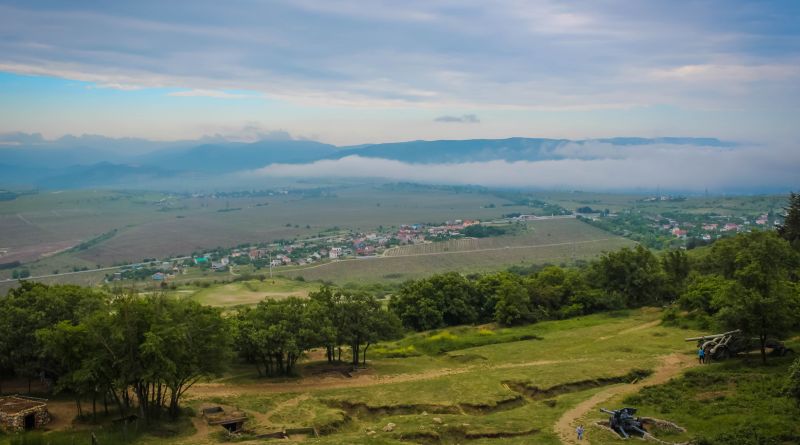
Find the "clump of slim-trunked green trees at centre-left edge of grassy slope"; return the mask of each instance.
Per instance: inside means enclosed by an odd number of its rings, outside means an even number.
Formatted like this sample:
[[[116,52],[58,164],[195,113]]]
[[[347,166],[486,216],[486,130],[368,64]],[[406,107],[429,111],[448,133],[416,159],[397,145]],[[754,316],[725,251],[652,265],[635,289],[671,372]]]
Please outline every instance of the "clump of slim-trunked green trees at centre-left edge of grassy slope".
[[[330,287],[309,298],[264,300],[232,317],[236,350],[259,375],[289,375],[311,348],[325,348],[328,362],[342,360],[350,349],[354,367],[366,365],[375,342],[402,336],[397,317],[366,293],[345,293]]]

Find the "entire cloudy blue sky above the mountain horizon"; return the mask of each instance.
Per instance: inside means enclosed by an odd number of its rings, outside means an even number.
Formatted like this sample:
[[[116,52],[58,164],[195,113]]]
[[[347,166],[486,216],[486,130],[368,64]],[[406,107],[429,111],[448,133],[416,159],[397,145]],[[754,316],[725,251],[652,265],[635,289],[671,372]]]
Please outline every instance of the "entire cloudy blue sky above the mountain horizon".
[[[0,133],[785,147],[797,23],[797,1],[0,0]]]

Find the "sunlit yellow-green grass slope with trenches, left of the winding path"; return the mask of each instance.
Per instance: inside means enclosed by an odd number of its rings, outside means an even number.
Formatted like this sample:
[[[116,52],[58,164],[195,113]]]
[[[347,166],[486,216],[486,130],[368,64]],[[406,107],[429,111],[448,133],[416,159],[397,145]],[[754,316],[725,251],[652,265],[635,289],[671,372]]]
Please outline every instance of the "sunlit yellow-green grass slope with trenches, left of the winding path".
[[[553,425],[565,411],[686,348],[687,331],[658,326],[659,317],[657,310],[625,311],[412,334],[374,348],[413,347],[417,355],[371,355],[369,370],[356,373],[354,385],[328,375],[323,381],[343,387],[302,386],[320,382],[316,373],[326,365],[315,362],[300,368],[306,378],[226,380],[220,396],[192,403],[236,406],[259,428],[314,426],[325,433],[314,443],[555,444]],[[258,385],[286,391],[265,393]],[[520,388],[549,391],[534,397]],[[395,427],[383,431],[390,423]]]

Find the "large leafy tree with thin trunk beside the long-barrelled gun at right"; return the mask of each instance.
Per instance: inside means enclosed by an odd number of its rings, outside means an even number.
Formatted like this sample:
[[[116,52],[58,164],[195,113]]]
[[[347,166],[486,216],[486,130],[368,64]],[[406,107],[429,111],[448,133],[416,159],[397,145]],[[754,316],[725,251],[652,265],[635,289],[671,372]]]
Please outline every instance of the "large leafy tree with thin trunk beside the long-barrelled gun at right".
[[[785,335],[798,322],[797,288],[789,280],[800,263],[798,253],[774,232],[738,235],[728,243],[737,252],[728,266],[733,283],[714,302],[717,318],[728,328],[758,336],[766,363],[767,338]]]

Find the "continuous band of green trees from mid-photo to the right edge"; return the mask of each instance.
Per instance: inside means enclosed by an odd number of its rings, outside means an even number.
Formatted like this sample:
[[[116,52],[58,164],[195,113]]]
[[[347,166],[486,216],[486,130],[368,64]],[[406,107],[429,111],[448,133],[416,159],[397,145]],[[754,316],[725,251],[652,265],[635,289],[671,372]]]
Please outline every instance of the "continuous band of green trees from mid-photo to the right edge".
[[[796,217],[800,228],[800,198]],[[461,324],[533,323],[599,311],[669,306],[665,321],[703,330],[741,329],[768,338],[800,329],[800,229],[752,232],[687,253],[638,245],[582,267],[529,274],[434,275],[402,285],[389,303],[416,330]]]

